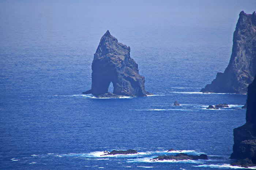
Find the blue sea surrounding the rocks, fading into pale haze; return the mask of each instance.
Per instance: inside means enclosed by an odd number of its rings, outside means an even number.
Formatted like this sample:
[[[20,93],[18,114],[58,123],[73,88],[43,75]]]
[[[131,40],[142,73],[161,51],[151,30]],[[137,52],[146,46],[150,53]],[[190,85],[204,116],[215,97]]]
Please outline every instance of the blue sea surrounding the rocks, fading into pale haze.
[[[0,169],[231,168],[246,95],[199,91],[225,70],[238,14],[253,4],[1,1]],[[106,30],[131,47],[154,96],[82,95]],[[206,109],[218,103],[230,107]],[[209,160],[150,161],[171,148]],[[139,154],[100,156],[127,149]]]

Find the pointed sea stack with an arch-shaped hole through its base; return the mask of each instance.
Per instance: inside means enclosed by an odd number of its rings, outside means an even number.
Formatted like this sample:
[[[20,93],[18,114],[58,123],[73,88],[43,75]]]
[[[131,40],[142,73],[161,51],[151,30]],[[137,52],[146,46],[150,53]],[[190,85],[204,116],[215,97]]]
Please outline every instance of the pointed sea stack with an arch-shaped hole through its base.
[[[91,90],[83,94],[96,97],[147,96],[145,78],[139,75],[138,64],[130,57],[130,47],[118,43],[107,31],[99,42],[92,64]],[[110,83],[113,93],[108,93]]]

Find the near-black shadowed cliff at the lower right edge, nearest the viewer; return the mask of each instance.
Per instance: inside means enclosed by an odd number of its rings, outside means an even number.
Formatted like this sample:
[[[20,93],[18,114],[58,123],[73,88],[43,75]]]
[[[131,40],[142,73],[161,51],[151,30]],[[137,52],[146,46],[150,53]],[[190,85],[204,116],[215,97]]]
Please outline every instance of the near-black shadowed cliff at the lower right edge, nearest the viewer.
[[[233,165],[256,166],[256,79],[248,86],[246,123],[234,129]]]

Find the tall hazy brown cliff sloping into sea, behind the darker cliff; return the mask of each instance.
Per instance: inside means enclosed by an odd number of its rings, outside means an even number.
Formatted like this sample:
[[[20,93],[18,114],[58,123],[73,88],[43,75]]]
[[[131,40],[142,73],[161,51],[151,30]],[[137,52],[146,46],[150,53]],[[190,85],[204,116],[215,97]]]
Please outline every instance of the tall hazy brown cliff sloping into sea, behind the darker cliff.
[[[201,92],[245,94],[256,74],[256,13],[240,12],[232,54],[224,73],[218,72]]]

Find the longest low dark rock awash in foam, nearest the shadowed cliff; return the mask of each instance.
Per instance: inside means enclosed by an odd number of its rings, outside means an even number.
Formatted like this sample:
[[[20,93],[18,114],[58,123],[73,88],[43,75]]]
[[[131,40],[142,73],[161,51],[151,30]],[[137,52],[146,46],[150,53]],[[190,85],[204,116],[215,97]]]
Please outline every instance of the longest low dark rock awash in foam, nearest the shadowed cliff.
[[[183,154],[179,153],[177,155],[160,155],[156,158],[153,158],[151,160],[156,160],[156,161],[163,161],[163,160],[197,160],[197,159],[208,159],[207,155],[201,154],[201,155],[188,155],[188,154]]]

